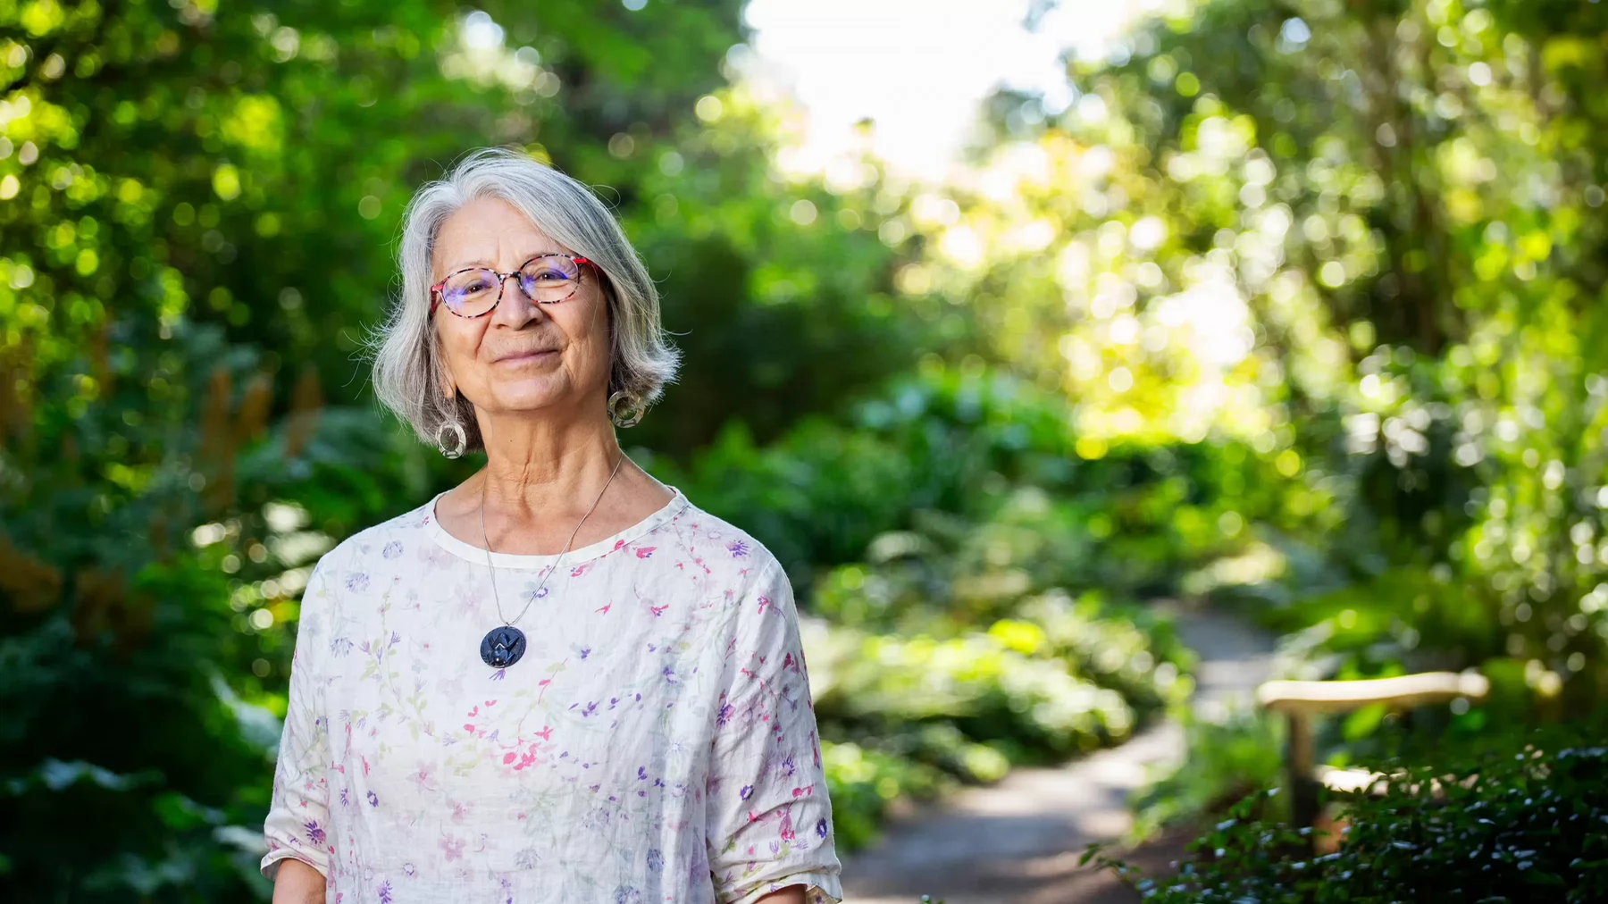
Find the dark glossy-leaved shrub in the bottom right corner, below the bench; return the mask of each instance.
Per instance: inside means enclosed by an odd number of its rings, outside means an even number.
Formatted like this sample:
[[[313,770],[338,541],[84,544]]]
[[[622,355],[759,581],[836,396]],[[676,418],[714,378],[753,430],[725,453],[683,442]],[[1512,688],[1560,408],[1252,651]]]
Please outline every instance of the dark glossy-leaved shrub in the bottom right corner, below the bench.
[[[1336,853],[1256,817],[1257,796],[1192,843],[1177,878],[1100,856],[1158,904],[1598,901],[1608,894],[1608,750],[1574,725],[1466,761],[1388,766],[1381,796],[1344,804]]]

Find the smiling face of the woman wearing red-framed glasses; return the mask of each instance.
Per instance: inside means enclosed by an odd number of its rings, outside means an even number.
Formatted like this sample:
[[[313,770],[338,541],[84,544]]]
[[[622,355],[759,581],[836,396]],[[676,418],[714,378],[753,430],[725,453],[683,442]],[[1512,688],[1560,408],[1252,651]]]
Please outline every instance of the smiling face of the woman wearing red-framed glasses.
[[[441,225],[431,259],[431,285],[465,267],[500,273],[516,270],[537,254],[568,254],[507,201],[478,198]],[[537,409],[577,409],[608,388],[608,301],[598,273],[580,269],[580,286],[566,301],[535,304],[505,280],[502,301],[490,314],[466,318],[436,309],[436,333],[450,386],[497,417]]]

